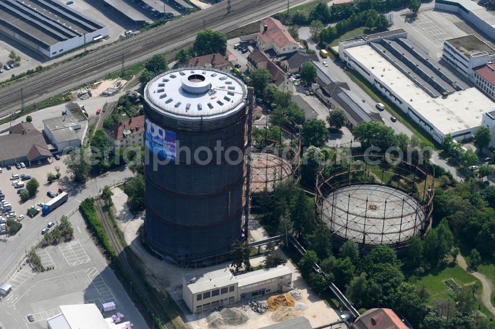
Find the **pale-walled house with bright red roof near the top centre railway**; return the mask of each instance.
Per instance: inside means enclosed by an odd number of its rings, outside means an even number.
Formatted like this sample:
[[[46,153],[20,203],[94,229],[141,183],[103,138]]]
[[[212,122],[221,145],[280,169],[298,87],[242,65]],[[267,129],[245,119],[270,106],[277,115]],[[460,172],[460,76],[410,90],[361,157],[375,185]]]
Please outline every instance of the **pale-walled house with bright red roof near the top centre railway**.
[[[299,49],[296,41],[289,30],[282,23],[272,17],[265,18],[260,22],[260,30],[256,35],[256,45],[262,51],[272,49],[276,55],[285,55]]]

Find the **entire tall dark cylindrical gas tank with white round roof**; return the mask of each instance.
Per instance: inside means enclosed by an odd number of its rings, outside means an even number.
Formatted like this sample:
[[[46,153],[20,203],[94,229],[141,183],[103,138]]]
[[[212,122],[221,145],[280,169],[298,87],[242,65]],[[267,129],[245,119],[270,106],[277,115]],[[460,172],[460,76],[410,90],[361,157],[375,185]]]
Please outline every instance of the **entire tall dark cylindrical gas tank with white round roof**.
[[[145,239],[178,264],[214,262],[242,234],[247,86],[190,67],[156,76],[144,96]]]

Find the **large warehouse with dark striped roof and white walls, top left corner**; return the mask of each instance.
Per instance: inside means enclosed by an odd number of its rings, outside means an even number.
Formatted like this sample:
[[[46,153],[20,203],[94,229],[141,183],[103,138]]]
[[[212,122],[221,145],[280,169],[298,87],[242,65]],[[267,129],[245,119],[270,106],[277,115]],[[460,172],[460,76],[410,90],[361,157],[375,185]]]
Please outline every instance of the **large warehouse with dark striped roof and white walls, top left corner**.
[[[56,0],[0,1],[0,33],[45,58],[108,36],[108,27]]]

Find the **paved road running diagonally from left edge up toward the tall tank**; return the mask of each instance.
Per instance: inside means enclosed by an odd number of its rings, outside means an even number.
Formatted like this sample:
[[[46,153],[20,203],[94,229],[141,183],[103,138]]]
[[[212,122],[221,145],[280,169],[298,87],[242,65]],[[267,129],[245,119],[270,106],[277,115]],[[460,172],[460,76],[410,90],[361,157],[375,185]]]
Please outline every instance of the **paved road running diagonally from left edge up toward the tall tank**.
[[[81,201],[90,196],[97,195],[99,189],[105,185],[111,185],[123,178],[132,176],[132,172],[126,167],[121,167],[117,170],[112,170],[92,179],[85,184],[74,184],[67,189],[69,193],[69,201],[57,208],[45,218],[39,218],[39,221],[30,221],[30,225],[24,225],[15,236],[10,237],[7,242],[0,242],[0,283],[7,280],[7,277],[15,270],[18,262],[24,256],[25,249],[29,249],[35,245],[41,238],[41,230],[46,226],[47,222],[55,222],[63,214],[67,214],[77,208]]]

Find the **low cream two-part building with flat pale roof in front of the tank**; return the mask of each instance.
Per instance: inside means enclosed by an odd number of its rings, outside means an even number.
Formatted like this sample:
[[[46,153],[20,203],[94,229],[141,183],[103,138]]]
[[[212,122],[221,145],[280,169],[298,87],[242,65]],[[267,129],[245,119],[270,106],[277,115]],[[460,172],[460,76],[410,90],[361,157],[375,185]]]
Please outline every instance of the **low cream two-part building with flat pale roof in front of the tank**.
[[[228,268],[182,278],[182,298],[191,313],[256,296],[287,291],[292,271],[287,265],[235,276]]]

